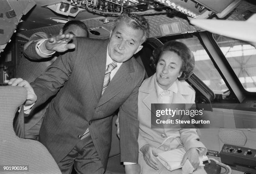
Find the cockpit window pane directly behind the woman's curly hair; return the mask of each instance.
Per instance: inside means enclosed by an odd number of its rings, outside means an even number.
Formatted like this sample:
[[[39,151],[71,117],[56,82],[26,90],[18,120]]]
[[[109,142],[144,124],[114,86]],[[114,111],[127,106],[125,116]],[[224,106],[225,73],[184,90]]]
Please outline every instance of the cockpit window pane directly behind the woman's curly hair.
[[[195,56],[194,73],[215,93],[225,96],[225,91],[228,91],[223,78],[213,65],[209,55],[203,48],[199,39],[196,36],[191,38],[177,39],[186,44],[192,50]]]

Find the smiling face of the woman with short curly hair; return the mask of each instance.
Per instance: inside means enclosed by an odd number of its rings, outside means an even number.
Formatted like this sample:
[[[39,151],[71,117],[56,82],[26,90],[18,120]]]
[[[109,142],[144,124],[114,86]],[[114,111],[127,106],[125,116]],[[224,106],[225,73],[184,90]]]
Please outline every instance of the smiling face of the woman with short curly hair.
[[[182,75],[180,69],[182,59],[172,51],[164,51],[156,65],[156,81],[161,88],[167,90],[178,77]]]

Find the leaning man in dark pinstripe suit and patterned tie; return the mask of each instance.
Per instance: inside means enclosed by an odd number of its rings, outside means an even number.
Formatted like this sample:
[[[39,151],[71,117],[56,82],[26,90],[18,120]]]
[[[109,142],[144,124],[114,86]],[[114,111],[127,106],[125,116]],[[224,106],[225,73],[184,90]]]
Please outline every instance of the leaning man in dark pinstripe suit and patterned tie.
[[[28,89],[26,105],[36,101],[33,108],[56,95],[39,141],[62,173],[69,174],[73,164],[79,174],[104,173],[112,114],[118,108],[121,161],[127,164],[127,174],[139,173],[139,165],[134,164],[138,162],[137,103],[145,71],[132,56],[147,37],[146,19],[125,14],[116,21],[110,40],[74,38],[75,49],[57,58],[31,83],[33,88],[21,78],[8,82]]]

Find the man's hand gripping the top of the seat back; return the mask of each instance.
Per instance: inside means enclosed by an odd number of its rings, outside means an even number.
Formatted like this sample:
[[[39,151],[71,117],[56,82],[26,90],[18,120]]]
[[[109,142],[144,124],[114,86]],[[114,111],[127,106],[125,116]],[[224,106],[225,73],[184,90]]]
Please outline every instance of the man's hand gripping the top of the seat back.
[[[5,80],[5,83],[8,83],[8,85],[10,86],[22,86],[26,88],[26,90],[28,91],[28,96],[25,102],[25,106],[30,106],[36,102],[36,94],[32,86],[30,86],[30,84],[27,81],[23,80],[22,78],[12,78],[10,80]]]

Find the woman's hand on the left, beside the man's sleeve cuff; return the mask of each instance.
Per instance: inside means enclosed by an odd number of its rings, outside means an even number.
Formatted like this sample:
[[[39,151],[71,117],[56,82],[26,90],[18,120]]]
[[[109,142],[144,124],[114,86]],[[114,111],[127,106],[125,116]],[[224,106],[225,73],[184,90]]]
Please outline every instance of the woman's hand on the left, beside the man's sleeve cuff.
[[[144,160],[148,166],[151,166],[153,169],[158,170],[158,153],[160,152],[158,149],[150,146],[149,144],[145,144],[141,147],[140,151],[143,153]]]

